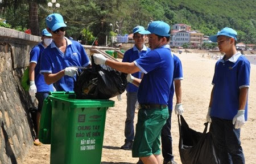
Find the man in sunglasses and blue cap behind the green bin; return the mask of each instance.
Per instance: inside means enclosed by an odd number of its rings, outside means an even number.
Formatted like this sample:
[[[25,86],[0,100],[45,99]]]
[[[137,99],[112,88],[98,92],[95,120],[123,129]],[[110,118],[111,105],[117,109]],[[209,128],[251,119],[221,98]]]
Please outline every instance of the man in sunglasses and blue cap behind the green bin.
[[[44,50],[40,73],[57,91],[72,91],[77,67],[89,66],[90,60],[79,42],[64,37],[67,25],[60,14],[48,15],[46,24],[53,41]]]

